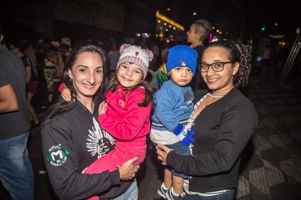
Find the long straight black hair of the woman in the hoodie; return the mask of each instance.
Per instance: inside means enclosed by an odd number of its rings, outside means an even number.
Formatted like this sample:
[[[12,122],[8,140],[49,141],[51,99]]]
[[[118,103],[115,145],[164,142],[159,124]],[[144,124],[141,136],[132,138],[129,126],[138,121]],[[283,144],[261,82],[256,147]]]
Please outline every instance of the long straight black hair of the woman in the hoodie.
[[[64,80],[63,80],[66,87],[69,88],[71,92],[71,101],[66,102],[62,97],[60,97],[58,101],[55,102],[54,105],[52,105],[47,110],[45,121],[41,126],[42,131],[43,131],[43,127],[45,127],[45,125],[49,123],[50,120],[52,120],[55,116],[66,113],[74,107],[77,101],[77,92],[73,86],[72,81],[70,81],[68,70],[72,70],[72,67],[75,65],[75,62],[80,54],[87,53],[87,52],[97,53],[101,57],[103,63],[102,84],[93,98],[95,98],[95,96],[97,98],[100,97],[104,98],[106,96],[106,92],[108,88],[108,72],[107,72],[107,60],[104,51],[96,43],[91,41],[83,41],[74,45],[73,49],[69,53],[65,62]]]

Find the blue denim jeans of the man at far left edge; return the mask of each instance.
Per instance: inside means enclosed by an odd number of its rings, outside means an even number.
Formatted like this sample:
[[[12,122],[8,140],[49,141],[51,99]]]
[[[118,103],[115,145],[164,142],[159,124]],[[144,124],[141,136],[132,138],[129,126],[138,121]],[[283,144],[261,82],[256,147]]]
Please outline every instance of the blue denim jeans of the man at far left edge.
[[[13,200],[33,200],[34,177],[28,158],[29,131],[0,140],[0,180]]]

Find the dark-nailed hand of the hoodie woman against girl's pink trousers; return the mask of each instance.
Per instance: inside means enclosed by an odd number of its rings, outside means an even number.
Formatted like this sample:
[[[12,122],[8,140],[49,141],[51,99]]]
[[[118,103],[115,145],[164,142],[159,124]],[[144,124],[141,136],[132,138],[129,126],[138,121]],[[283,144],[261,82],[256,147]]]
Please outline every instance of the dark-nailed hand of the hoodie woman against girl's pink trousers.
[[[119,170],[120,179],[121,180],[129,180],[132,177],[135,177],[135,173],[139,170],[139,165],[133,165],[137,160],[139,160],[140,156],[136,156],[132,159],[129,159],[122,166],[117,165],[116,167]]]

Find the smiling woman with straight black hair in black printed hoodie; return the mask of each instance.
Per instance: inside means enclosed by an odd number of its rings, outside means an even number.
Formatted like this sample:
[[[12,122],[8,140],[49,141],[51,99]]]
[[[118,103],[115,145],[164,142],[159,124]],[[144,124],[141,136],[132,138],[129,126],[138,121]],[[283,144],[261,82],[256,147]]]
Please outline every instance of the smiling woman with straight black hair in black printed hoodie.
[[[133,165],[138,156],[112,172],[83,174],[114,149],[114,139],[97,120],[99,104],[108,88],[107,76],[106,56],[100,47],[87,41],[74,46],[65,62],[63,79],[72,94],[71,101],[60,97],[41,128],[46,169],[60,199],[94,195],[113,199],[137,187],[132,177],[139,169],[139,165]]]

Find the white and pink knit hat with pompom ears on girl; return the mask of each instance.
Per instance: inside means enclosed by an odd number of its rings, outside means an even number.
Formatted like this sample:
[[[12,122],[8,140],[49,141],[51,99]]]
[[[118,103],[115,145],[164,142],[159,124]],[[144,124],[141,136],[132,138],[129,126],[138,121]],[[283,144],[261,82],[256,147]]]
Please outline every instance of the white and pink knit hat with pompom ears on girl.
[[[130,44],[121,45],[119,52],[121,56],[119,57],[117,63],[117,70],[122,63],[132,62],[141,67],[143,72],[143,79],[145,79],[148,66],[154,58],[153,52],[151,50],[142,49],[139,46]]]

